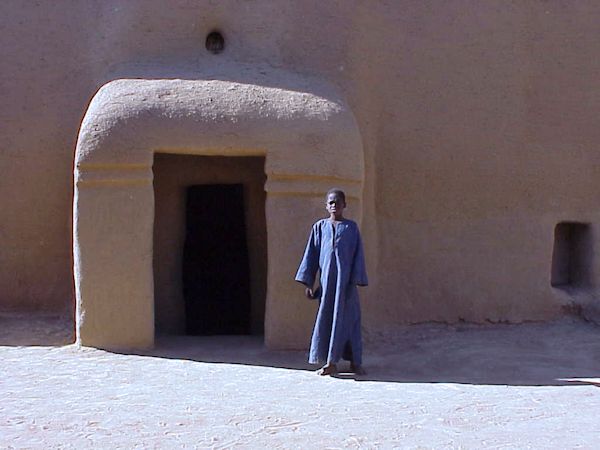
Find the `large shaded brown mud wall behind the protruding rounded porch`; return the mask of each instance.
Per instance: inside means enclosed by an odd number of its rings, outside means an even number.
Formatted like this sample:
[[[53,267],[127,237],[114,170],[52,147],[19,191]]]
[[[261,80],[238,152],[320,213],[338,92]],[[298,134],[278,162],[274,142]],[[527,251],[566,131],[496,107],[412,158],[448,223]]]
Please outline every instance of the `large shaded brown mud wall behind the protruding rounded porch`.
[[[600,223],[599,15],[562,1],[2,2],[0,307],[72,307],[73,152],[95,91],[230,60],[326,80],[354,113],[368,328],[554,317],[569,301],[550,286],[554,226]]]

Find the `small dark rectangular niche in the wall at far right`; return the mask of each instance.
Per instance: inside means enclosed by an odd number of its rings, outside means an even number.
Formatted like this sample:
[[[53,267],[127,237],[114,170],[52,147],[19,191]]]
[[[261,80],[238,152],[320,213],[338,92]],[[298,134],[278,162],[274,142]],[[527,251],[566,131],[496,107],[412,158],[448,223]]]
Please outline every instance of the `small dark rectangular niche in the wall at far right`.
[[[592,229],[589,224],[558,223],[554,228],[551,285],[560,289],[590,286],[593,254]]]

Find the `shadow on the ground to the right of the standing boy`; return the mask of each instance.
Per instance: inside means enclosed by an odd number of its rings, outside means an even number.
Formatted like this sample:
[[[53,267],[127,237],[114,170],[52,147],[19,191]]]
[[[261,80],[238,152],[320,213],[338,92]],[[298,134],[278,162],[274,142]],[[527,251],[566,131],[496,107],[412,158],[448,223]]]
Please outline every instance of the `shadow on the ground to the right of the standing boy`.
[[[578,318],[418,325],[371,339],[373,381],[551,386],[600,380],[600,327]]]

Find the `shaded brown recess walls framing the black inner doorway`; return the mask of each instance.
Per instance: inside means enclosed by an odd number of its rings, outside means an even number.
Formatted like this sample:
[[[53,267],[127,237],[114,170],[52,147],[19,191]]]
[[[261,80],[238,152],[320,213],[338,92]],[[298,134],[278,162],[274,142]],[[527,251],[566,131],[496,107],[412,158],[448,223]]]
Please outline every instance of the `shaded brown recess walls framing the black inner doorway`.
[[[155,334],[185,334],[182,263],[186,192],[190,186],[242,184],[250,258],[251,333],[264,335],[267,292],[265,159],[154,154]]]

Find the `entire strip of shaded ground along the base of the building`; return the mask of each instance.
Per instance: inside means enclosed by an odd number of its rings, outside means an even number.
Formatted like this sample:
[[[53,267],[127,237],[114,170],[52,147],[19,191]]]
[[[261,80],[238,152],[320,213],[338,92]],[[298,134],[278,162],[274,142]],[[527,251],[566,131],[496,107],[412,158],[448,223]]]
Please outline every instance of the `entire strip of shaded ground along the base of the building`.
[[[73,342],[59,317],[0,315],[0,345]],[[120,352],[206,363],[311,371],[306,351],[274,351],[262,336],[161,336],[154,349]],[[340,379],[476,385],[600,385],[600,327],[577,317],[520,325],[421,324],[365,335],[366,376]],[[317,375],[315,375],[317,376]],[[567,381],[569,380],[569,381]]]

